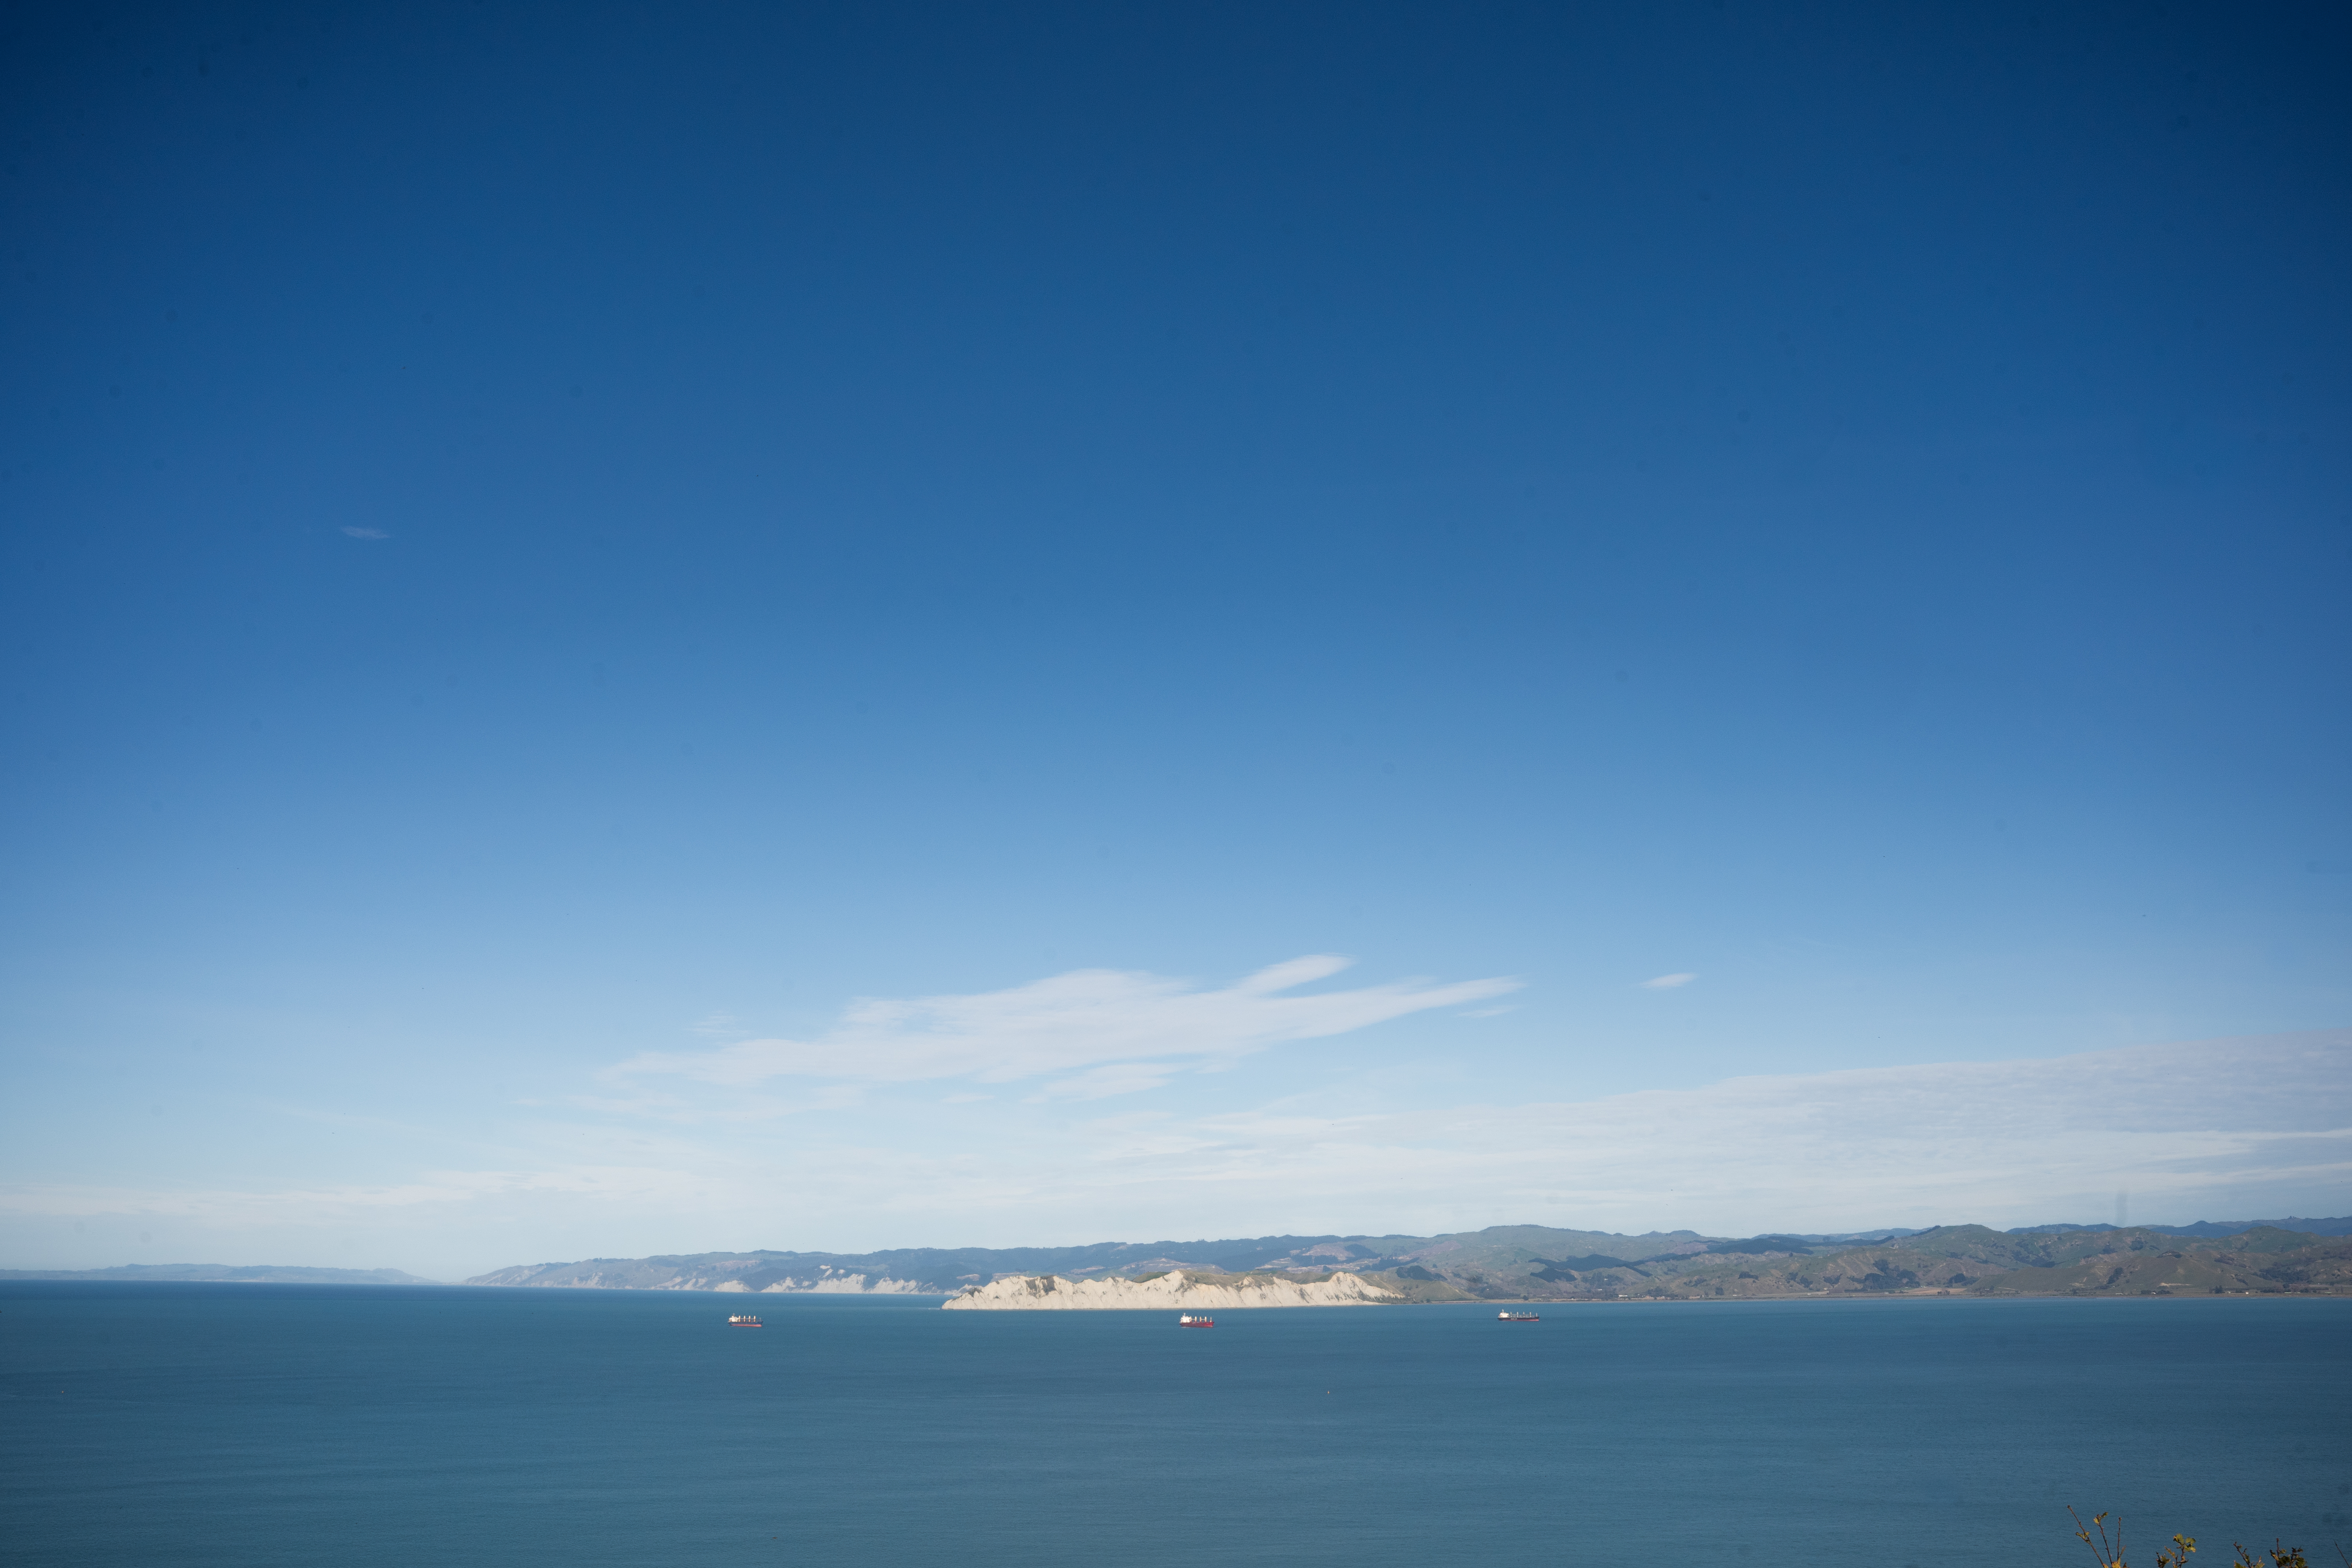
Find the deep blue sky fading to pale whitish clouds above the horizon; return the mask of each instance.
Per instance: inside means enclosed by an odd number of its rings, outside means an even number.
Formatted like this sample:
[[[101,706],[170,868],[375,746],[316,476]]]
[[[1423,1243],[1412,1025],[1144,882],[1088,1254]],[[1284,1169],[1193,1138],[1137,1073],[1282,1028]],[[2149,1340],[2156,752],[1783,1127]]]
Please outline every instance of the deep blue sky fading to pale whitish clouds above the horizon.
[[[2340,12],[7,28],[7,1262],[2352,1211]]]

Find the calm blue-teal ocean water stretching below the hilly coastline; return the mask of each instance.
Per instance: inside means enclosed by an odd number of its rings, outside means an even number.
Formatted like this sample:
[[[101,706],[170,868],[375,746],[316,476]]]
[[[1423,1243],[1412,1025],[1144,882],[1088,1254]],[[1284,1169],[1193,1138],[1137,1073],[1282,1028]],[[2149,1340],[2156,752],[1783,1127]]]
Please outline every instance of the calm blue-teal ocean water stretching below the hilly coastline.
[[[762,1331],[731,1331],[755,1309]],[[0,1288],[35,1563],[2011,1563],[2352,1549],[2352,1300],[938,1312]]]

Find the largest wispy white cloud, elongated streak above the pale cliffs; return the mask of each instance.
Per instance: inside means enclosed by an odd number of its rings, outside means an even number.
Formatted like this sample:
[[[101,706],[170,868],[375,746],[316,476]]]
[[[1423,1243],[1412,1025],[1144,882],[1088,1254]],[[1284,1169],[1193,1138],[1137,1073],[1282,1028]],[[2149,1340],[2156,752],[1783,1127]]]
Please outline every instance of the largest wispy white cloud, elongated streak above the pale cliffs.
[[[816,1039],[746,1039],[717,1051],[647,1051],[607,1070],[612,1079],[654,1074],[748,1088],[779,1077],[910,1084],[922,1079],[1016,1079],[1077,1072],[1054,1098],[1098,1098],[1152,1086],[1143,1079],[1228,1063],[1294,1039],[1345,1034],[1428,1009],[1484,1001],[1517,990],[1510,978],[1390,980],[1341,992],[1298,992],[1348,966],[1317,954],[1261,969],[1221,990],[1200,990],[1141,971],[1077,969],[969,997],[861,999]],[[1108,1063],[1176,1058],[1181,1065],[1087,1074]],[[1124,1084],[1115,1088],[1112,1084]]]

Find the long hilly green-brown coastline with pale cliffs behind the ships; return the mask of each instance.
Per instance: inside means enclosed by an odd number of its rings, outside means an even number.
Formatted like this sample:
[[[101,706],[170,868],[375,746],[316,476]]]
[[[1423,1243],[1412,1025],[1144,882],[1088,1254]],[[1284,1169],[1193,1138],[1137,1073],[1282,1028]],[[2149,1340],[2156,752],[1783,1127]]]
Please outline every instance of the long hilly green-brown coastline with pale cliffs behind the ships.
[[[691,1253],[539,1262],[473,1286],[588,1291],[974,1295],[971,1305],[1061,1307],[1129,1291],[1087,1281],[1183,1274],[1190,1288],[1317,1305],[1343,1291],[1265,1291],[1359,1276],[1376,1300],[1724,1300],[1806,1295],[2352,1295],[2352,1218],[2199,1222],[2192,1227],[2037,1225],[1748,1239],[1698,1232],[1621,1237],[1548,1225],[1494,1225],[1446,1237],[1256,1237],[1232,1241],[1101,1241],[1040,1248],[898,1248],[884,1253]],[[1004,1281],[1056,1288],[993,1288]],[[1171,1286],[1174,1288],[1174,1286]],[[1141,1300],[1141,1298],[1134,1298]],[[1211,1305],[1207,1295],[1197,1298]],[[1225,1300],[1225,1298],[1218,1298]],[[1240,1298],[1235,1298],[1240,1300]],[[960,1305],[960,1302],[950,1302]],[[1228,1302],[1235,1305],[1235,1302]]]

